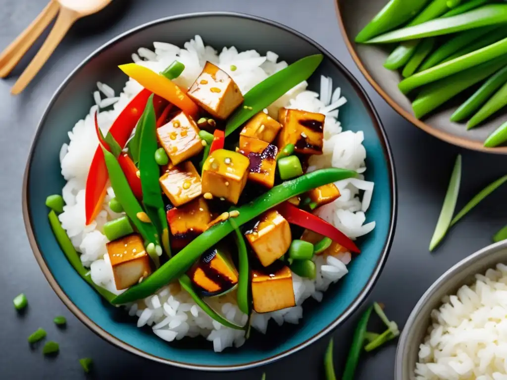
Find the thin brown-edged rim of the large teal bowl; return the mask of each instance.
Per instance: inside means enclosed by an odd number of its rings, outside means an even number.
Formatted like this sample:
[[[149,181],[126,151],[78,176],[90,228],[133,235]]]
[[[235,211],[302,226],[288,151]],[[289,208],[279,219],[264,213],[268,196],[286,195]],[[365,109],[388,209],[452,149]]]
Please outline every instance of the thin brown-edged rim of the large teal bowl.
[[[391,205],[391,212],[390,212],[390,223],[389,223],[389,229],[387,234],[387,239],[384,243],[384,247],[382,248],[382,252],[377,260],[375,270],[370,276],[367,284],[361,290],[361,292],[357,295],[357,297],[354,299],[354,301],[348,306],[348,308],[340,315],[338,316],[332,323],[330,323],[327,327],[320,330],[318,333],[310,337],[309,339],[305,340],[303,343],[294,346],[293,348],[283,351],[279,354],[273,355],[271,357],[268,357],[263,360],[253,361],[245,364],[238,364],[238,365],[196,365],[196,364],[188,364],[183,362],[177,362],[165,358],[161,358],[146,352],[143,352],[127,343],[125,343],[123,340],[117,338],[116,336],[113,336],[112,334],[106,332],[101,327],[99,327],[95,322],[93,322],[87,315],[85,315],[74,303],[70,300],[70,298],[67,296],[67,294],[62,290],[62,288],[59,286],[53,275],[51,274],[48,265],[41,253],[39,244],[37,240],[35,240],[35,236],[33,233],[33,226],[32,221],[30,219],[29,213],[28,213],[28,177],[30,175],[30,166],[32,162],[33,157],[33,149],[35,146],[35,141],[39,138],[39,134],[41,133],[41,127],[45,123],[47,115],[53,106],[53,103],[55,102],[56,98],[59,96],[60,92],[67,86],[67,84],[73,79],[74,75],[83,68],[91,59],[93,59],[95,56],[101,54],[104,50],[112,47],[115,43],[119,42],[120,40],[124,39],[125,37],[128,37],[140,30],[143,30],[145,28],[152,27],[154,25],[162,24],[168,21],[173,20],[180,20],[180,19],[189,19],[189,18],[197,18],[197,17],[209,17],[209,16],[227,16],[227,17],[235,17],[235,18],[243,18],[253,21],[258,21],[261,23],[265,23],[271,26],[274,26],[276,28],[288,31],[292,34],[295,34],[296,36],[300,37],[301,39],[308,42],[310,45],[313,45],[316,49],[318,49],[325,57],[327,57],[338,69],[344,74],[345,78],[349,81],[349,83],[354,87],[355,92],[357,95],[361,98],[363,103],[365,104],[366,108],[369,111],[370,118],[373,122],[374,128],[377,131],[377,135],[379,136],[379,140],[381,142],[381,145],[383,147],[383,154],[384,159],[387,162],[387,169],[389,173],[389,188],[392,196],[392,205]],[[252,16],[244,13],[238,13],[238,12],[197,12],[197,13],[188,13],[188,14],[182,14],[182,15],[175,15],[175,16],[169,16],[160,18],[154,21],[150,21],[147,23],[144,23],[142,25],[139,25],[137,27],[134,27],[130,30],[127,30],[123,32],[122,34],[118,35],[114,39],[106,42],[102,46],[100,46],[98,49],[96,49],[94,52],[92,52],[88,57],[86,57],[68,76],[65,78],[65,80],[60,84],[60,86],[56,89],[53,96],[51,97],[50,102],[48,103],[43,116],[38,124],[37,131],[35,132],[35,135],[33,137],[31,147],[30,147],[30,153],[28,155],[28,160],[26,163],[25,173],[23,177],[23,186],[22,186],[22,210],[23,210],[23,220],[25,224],[26,233],[28,236],[28,240],[31,246],[31,249],[33,251],[33,255],[35,256],[35,259],[39,263],[39,266],[41,267],[41,270],[46,277],[46,280],[49,282],[49,285],[54,290],[56,295],[62,300],[64,305],[81,321],[85,324],[86,327],[88,327],[90,330],[92,330],[95,334],[100,336],[102,339],[106,340],[108,343],[111,343],[119,348],[121,348],[124,351],[127,351],[131,354],[138,355],[142,358],[150,359],[159,363],[164,364],[170,364],[176,367],[185,368],[185,369],[194,369],[194,370],[205,370],[205,371],[233,371],[233,370],[240,370],[240,369],[248,369],[253,368],[261,365],[265,365],[268,363],[272,363],[276,360],[282,359],[290,354],[293,354],[299,350],[302,350],[303,348],[311,345],[324,335],[328,334],[332,330],[334,330],[337,326],[341,325],[343,322],[345,322],[352,313],[359,308],[361,303],[366,299],[366,297],[369,295],[371,290],[373,289],[373,286],[375,285],[377,279],[380,276],[380,273],[383,270],[384,264],[387,259],[387,255],[389,253],[389,250],[392,245],[392,240],[394,236],[394,230],[396,226],[396,216],[397,216],[397,186],[396,186],[396,176],[395,176],[395,170],[394,170],[394,162],[392,158],[391,148],[389,145],[389,142],[387,140],[387,135],[385,133],[384,127],[382,126],[382,123],[380,121],[380,118],[377,114],[377,111],[375,110],[372,101],[368,97],[366,91],[364,88],[359,84],[359,82],[353,77],[353,75],[350,73],[350,71],[340,62],[338,61],[331,53],[329,53],[327,50],[325,50],[322,46],[317,44],[315,41],[311,40],[306,35],[298,32],[295,29],[289,28],[288,26],[285,26],[283,24],[280,24],[275,21],[271,21],[262,17],[258,16]]]

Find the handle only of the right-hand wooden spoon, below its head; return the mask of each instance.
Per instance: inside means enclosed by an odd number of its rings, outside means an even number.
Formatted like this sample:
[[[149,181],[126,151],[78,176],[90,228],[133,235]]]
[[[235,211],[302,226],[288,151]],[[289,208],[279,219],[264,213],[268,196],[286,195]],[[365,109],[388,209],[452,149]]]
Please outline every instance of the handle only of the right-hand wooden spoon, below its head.
[[[50,55],[54,52],[60,41],[67,33],[68,29],[70,29],[79,16],[80,15],[76,11],[67,8],[60,9],[60,13],[58,14],[55,25],[53,26],[53,29],[51,29],[48,38],[12,87],[11,94],[17,95],[25,89],[33,77],[35,77],[35,75],[39,72],[41,67],[46,63]]]

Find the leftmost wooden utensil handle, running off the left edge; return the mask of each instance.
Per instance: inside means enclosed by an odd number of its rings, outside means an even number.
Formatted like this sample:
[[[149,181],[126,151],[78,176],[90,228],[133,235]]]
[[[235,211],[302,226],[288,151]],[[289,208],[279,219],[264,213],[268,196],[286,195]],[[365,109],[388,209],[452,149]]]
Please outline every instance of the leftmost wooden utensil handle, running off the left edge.
[[[21,57],[30,49],[35,40],[39,38],[51,20],[55,18],[59,8],[60,5],[55,0],[51,0],[39,16],[17,36],[16,40],[0,53],[0,78],[5,78],[9,75]]]

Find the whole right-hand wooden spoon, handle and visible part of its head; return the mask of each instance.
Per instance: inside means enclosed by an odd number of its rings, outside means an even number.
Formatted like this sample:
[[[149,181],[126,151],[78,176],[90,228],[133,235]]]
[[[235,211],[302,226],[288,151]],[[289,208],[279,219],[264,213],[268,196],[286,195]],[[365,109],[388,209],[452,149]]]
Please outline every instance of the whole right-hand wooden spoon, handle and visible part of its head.
[[[56,18],[55,25],[39,52],[33,57],[30,64],[12,87],[11,94],[13,95],[19,94],[25,89],[44,63],[46,63],[68,29],[78,19],[102,10],[106,5],[111,3],[111,0],[56,0],[56,2],[59,4],[60,12]]]

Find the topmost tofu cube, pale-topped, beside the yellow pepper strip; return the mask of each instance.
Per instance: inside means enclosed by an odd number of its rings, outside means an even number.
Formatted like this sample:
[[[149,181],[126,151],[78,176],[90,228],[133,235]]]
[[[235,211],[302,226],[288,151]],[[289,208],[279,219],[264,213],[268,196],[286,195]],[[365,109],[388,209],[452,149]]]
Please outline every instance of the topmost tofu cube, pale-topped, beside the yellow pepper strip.
[[[210,62],[187,93],[216,119],[227,119],[242,102],[243,95],[229,75]]]

